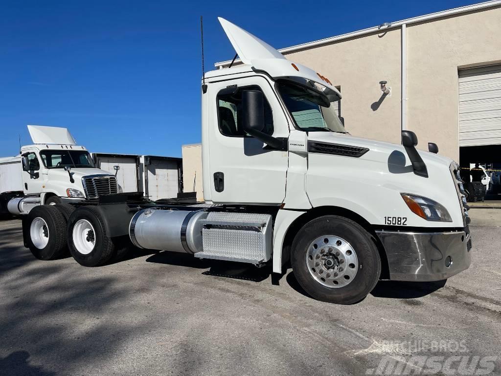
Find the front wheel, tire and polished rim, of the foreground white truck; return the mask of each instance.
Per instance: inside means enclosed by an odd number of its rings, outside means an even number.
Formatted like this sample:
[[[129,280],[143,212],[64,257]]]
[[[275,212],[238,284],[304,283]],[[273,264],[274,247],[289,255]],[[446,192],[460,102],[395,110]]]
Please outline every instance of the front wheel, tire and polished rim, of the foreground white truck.
[[[294,239],[291,262],[296,279],[308,294],[337,304],[365,298],[381,274],[371,235],[338,216],[307,223]]]

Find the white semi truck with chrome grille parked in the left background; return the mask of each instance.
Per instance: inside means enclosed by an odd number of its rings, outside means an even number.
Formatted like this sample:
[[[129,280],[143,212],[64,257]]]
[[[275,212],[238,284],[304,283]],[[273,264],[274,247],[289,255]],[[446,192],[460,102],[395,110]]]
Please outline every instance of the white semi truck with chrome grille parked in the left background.
[[[28,125],[33,145],[0,159],[0,214],[28,214],[38,205],[76,203],[121,192],[117,179],[95,168],[68,129]]]

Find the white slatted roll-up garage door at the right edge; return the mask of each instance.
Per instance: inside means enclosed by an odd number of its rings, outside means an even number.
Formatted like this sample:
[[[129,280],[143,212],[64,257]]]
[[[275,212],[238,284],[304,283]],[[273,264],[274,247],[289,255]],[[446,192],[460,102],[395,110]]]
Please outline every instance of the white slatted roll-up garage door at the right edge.
[[[459,146],[501,144],[501,65],[459,71]]]

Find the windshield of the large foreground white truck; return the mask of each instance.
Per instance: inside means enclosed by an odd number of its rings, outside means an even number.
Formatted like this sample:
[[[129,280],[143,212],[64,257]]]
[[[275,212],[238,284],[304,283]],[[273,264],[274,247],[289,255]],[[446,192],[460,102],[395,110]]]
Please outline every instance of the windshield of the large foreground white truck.
[[[285,105],[304,131],[348,133],[326,95],[313,87],[289,81],[279,81],[278,90]]]

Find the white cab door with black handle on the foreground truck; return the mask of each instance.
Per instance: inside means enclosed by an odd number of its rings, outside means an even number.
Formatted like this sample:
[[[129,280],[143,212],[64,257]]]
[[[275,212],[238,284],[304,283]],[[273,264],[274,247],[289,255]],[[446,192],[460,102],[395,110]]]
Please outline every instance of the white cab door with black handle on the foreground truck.
[[[280,205],[286,192],[288,153],[273,150],[243,132],[241,92],[244,89],[263,92],[265,131],[274,137],[289,136],[284,110],[266,78],[253,76],[211,83],[208,91],[212,101],[208,106],[211,201]]]

